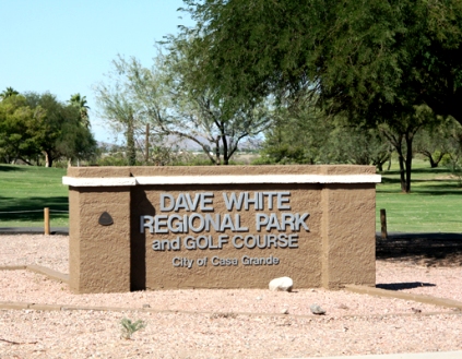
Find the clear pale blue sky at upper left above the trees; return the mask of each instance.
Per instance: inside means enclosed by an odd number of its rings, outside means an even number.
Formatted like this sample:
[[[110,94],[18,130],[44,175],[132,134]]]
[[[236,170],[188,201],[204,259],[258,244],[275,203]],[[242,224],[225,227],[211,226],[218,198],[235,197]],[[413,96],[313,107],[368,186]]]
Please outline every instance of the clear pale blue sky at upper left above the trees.
[[[0,1],[0,92],[50,92],[59,100],[86,96],[96,140],[112,142],[92,86],[105,80],[118,53],[151,67],[154,44],[178,25],[181,0]],[[179,19],[182,16],[183,19]]]

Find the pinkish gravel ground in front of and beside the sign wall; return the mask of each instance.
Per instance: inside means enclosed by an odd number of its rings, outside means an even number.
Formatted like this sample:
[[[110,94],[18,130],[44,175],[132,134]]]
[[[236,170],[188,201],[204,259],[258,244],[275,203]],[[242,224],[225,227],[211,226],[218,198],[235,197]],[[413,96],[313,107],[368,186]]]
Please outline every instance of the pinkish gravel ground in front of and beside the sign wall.
[[[68,273],[68,237],[0,236],[0,266],[26,264]],[[380,288],[459,301],[461,274],[460,266],[377,261]],[[462,312],[343,290],[72,295],[67,285],[27,271],[2,271],[0,288],[1,302],[118,308],[1,310],[1,359],[294,358],[462,350]],[[315,302],[325,315],[310,313]],[[123,318],[142,320],[146,327],[123,339]]]

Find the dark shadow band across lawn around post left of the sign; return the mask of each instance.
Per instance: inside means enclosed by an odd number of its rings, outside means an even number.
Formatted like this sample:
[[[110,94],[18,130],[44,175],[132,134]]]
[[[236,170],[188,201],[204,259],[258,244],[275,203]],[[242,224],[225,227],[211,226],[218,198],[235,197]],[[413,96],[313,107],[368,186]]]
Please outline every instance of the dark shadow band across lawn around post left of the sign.
[[[27,199],[0,196],[0,226],[5,222],[39,222],[44,219],[44,208],[50,208],[54,218],[68,216],[68,196],[36,196]],[[54,211],[58,211],[54,213]],[[61,212],[62,211],[62,212]]]

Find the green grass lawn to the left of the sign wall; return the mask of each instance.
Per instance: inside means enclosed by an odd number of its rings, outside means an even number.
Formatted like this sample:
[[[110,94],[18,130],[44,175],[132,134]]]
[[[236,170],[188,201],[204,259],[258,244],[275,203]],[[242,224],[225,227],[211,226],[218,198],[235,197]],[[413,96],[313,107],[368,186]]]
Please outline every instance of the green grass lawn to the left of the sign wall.
[[[43,227],[44,207],[50,208],[52,227],[67,227],[68,187],[61,184],[62,176],[62,168],[0,165],[0,227]]]

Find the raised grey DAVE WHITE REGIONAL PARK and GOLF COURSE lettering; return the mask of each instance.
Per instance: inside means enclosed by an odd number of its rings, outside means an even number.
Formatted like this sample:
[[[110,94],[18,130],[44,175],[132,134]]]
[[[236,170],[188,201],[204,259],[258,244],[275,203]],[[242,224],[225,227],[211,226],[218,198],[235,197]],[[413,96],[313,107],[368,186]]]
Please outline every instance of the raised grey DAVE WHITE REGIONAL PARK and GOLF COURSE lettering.
[[[176,239],[154,240],[152,248],[154,251],[179,251],[186,250],[205,250],[223,249],[230,243],[236,249],[248,248],[298,248],[298,232],[300,230],[309,231],[306,220],[308,213],[259,213],[259,211],[291,211],[291,192],[222,192],[226,211],[250,211],[254,213],[254,228],[259,232],[251,235],[250,229],[241,225],[240,214],[211,214],[214,212],[213,192],[196,193],[192,198],[189,193],[179,193],[177,198],[169,193],[161,194],[161,212],[192,212],[191,214],[159,214],[155,216],[142,215],[140,220],[140,231],[144,234],[149,230],[151,234],[200,234],[199,236],[177,236]],[[198,213],[198,210],[201,213]],[[205,235],[211,230],[215,232],[232,231],[236,235],[220,235],[214,238],[212,235]],[[262,230],[270,232],[276,230],[279,234],[261,235]],[[291,232],[288,232],[291,231]],[[237,234],[240,232],[240,234]],[[242,263],[247,260],[242,259]],[[175,262],[175,261],[174,261]],[[215,260],[216,262],[216,260]],[[249,264],[252,262],[248,260]],[[236,262],[234,262],[236,263]],[[176,265],[175,266],[183,266]],[[276,264],[276,263],[274,263]]]

